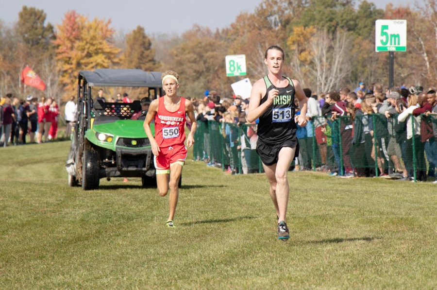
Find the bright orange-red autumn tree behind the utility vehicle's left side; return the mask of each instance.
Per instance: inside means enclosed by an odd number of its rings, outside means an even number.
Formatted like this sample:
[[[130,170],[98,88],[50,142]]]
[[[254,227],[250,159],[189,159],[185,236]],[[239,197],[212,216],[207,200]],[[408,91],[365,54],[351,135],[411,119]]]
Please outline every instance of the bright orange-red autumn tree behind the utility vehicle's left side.
[[[87,17],[68,11],[57,26],[56,59],[64,96],[74,94],[79,70],[110,68],[118,62],[120,51],[113,44],[114,30],[110,20]]]

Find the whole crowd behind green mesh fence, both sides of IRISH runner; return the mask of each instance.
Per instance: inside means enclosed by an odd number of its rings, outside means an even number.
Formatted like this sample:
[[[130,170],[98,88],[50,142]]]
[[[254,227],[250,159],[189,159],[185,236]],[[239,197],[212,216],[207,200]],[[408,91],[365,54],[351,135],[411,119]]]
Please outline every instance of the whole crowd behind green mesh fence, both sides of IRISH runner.
[[[366,88],[360,83],[354,91],[347,87],[319,95],[309,88],[303,91],[308,98],[307,125],[297,128],[300,155],[292,170],[324,171],[343,178],[431,177],[437,183],[435,89],[384,90],[382,85]],[[249,99],[220,98],[216,91],[206,91],[193,104],[201,128],[201,144],[196,146],[202,153],[195,157],[232,174],[259,172],[256,122],[246,120]],[[214,157],[217,153],[223,158]]]

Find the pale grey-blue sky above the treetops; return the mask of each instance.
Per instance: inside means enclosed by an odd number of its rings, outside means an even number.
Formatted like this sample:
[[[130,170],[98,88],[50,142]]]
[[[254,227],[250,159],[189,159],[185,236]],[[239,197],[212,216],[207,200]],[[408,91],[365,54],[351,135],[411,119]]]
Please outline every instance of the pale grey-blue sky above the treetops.
[[[47,21],[60,24],[68,10],[89,18],[111,18],[112,27],[129,33],[137,25],[148,34],[181,34],[194,24],[213,30],[234,22],[241,12],[253,12],[262,0],[0,0],[0,19],[6,24],[18,19],[23,5],[43,9]],[[407,0],[374,0],[384,8],[388,2],[394,5],[414,6]]]

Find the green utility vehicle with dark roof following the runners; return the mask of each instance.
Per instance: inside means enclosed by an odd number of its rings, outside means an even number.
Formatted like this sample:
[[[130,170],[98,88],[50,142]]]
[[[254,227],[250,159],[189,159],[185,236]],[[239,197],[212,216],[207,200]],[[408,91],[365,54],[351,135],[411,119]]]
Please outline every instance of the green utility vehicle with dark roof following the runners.
[[[66,163],[68,185],[81,185],[89,190],[99,188],[101,178],[141,177],[143,187],[156,186],[151,145],[143,129],[144,117],[131,119],[141,111],[140,101],[105,102],[97,98],[96,88],[107,86],[142,87],[150,99],[163,92],[160,72],[81,70],[76,125]],[[91,94],[93,87],[96,96]],[[151,130],[154,134],[153,124]]]

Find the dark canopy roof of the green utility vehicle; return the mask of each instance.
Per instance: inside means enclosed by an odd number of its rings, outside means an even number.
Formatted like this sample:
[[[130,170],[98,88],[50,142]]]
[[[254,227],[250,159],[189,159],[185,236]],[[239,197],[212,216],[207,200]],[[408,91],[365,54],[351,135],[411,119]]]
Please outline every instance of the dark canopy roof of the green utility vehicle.
[[[160,72],[142,69],[99,68],[94,71],[81,70],[79,75],[84,77],[89,86],[162,86]]]

